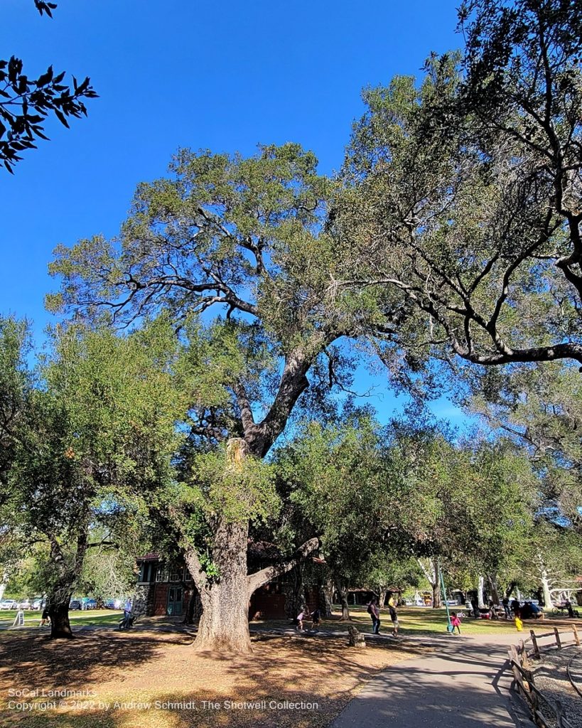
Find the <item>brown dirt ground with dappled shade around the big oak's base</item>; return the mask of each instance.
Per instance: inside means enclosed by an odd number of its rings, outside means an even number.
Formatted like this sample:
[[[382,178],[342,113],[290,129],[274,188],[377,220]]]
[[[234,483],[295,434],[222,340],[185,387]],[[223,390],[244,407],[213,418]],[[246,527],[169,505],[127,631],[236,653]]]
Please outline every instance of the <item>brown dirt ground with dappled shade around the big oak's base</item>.
[[[357,650],[344,638],[303,636],[257,636],[250,656],[197,655],[191,644],[187,634],[155,631],[87,631],[70,642],[6,636],[0,726],[322,727],[367,679],[418,654],[388,642]]]

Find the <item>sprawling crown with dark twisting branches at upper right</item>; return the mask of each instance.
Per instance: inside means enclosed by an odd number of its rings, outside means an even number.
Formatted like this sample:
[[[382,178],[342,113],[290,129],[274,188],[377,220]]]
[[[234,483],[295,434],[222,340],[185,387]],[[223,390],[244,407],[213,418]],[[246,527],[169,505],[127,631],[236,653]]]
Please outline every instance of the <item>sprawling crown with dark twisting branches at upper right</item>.
[[[461,17],[462,55],[364,92],[334,208],[345,284],[380,288],[372,331],[402,295],[420,360],[582,361],[579,20],[561,0]]]

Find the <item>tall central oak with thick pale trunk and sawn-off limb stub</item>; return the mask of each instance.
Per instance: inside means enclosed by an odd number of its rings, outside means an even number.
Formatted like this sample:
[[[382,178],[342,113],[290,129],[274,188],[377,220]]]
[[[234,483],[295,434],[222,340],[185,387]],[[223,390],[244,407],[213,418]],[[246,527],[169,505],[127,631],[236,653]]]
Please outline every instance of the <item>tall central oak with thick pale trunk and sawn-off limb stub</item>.
[[[347,291],[343,308],[328,296],[338,277],[324,229],[332,183],[313,154],[294,144],[247,159],[183,150],[172,173],[138,187],[118,240],[57,249],[50,270],[62,285],[49,306],[116,325],[164,309],[186,331],[188,428],[207,453],[194,457],[173,513],[204,608],[196,647],[247,651],[248,600],[277,573],[247,574],[249,522],[275,507],[260,461],[300,397],[309,401],[310,372],[313,385],[338,382],[334,344],[364,330],[366,308]]]

